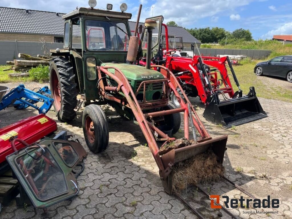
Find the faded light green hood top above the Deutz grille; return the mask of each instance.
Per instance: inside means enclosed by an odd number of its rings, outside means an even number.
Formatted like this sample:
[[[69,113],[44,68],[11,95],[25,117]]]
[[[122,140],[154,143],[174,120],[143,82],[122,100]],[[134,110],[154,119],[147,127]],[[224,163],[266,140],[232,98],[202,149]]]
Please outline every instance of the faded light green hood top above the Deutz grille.
[[[164,79],[164,76],[155,70],[146,69],[139,65],[130,65],[126,63],[102,63],[101,66],[113,66],[120,69],[127,79],[131,80],[151,80],[151,79]],[[108,69],[109,72],[114,73],[114,69]]]

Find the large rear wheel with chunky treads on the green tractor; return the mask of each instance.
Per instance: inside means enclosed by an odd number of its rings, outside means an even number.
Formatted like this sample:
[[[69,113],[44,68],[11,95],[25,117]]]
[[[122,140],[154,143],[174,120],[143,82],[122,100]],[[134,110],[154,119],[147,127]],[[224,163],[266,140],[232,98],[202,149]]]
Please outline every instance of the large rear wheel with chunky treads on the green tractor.
[[[54,109],[60,121],[75,118],[77,105],[77,84],[73,67],[68,59],[55,57],[50,62],[50,88]]]

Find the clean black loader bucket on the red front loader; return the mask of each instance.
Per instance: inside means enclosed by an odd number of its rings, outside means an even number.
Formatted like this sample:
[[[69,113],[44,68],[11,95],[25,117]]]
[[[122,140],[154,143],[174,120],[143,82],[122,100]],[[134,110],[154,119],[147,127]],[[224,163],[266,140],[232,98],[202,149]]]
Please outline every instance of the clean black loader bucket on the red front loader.
[[[231,100],[220,101],[218,94],[214,94],[203,116],[207,121],[231,128],[265,118],[267,114],[256,97],[254,87],[250,87],[248,95]]]

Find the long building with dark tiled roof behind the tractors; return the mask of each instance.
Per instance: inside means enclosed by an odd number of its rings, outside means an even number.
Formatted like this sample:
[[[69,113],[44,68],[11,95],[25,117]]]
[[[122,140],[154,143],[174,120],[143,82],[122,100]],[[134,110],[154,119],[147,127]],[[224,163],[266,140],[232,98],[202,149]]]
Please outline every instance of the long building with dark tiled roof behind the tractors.
[[[64,13],[0,7],[0,41],[39,41],[62,42],[64,32]],[[129,22],[131,30],[136,22]],[[144,25],[144,23],[140,23]],[[164,33],[164,28],[163,28]],[[183,27],[168,27],[168,34],[183,37],[184,46],[201,44]]]

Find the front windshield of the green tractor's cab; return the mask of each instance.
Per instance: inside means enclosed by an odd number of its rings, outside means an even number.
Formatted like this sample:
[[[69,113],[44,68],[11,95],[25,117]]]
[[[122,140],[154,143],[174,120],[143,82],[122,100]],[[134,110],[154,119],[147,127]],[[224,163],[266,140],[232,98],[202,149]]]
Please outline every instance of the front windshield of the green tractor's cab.
[[[129,36],[126,24],[115,21],[86,20],[88,50],[127,51]]]

